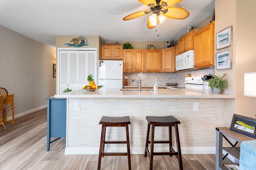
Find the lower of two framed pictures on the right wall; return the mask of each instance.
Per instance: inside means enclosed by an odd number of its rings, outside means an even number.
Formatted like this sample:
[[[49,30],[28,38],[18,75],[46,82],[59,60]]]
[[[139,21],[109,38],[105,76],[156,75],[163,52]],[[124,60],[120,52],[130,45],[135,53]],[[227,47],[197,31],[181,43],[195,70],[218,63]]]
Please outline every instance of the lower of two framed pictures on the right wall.
[[[232,49],[216,53],[216,70],[232,68]]]

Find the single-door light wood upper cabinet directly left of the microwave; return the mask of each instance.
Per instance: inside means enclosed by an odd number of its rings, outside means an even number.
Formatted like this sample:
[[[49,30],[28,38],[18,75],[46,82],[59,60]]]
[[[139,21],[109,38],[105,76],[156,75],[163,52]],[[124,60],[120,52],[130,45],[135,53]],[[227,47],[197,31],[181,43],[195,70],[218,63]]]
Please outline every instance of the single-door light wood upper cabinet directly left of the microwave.
[[[162,49],[162,72],[174,71],[174,47]]]

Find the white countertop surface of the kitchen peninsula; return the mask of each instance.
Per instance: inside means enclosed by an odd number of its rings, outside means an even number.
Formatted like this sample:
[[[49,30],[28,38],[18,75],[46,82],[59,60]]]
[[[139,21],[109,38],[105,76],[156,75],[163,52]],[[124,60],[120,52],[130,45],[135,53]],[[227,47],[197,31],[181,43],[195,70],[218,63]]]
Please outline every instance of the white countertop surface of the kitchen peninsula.
[[[186,89],[158,89],[158,91],[142,90],[124,91],[120,89],[98,89],[93,92],[86,90],[74,90],[62,94],[56,94],[55,98],[237,98],[233,94],[216,94],[212,90],[196,92]]]

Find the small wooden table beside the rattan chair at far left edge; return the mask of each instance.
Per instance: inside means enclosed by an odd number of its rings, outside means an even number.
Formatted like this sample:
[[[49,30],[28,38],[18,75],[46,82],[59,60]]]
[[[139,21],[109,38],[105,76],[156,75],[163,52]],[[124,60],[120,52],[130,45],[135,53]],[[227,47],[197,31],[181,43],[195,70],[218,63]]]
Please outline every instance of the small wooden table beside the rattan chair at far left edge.
[[[12,109],[12,121],[7,121],[7,113]],[[14,126],[14,94],[9,94],[5,106],[2,110],[4,123],[12,123]]]

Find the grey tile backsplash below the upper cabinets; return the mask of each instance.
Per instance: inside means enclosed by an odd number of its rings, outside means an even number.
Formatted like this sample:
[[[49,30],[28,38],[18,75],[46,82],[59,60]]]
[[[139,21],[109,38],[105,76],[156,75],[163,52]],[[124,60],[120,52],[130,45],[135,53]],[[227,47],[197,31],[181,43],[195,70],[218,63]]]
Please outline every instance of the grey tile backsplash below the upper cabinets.
[[[128,77],[128,86],[136,86],[135,82],[130,82],[130,80],[138,80],[139,76],[142,82],[142,86],[154,86],[155,78],[157,78],[158,86],[166,86],[165,83],[178,83],[178,86],[185,86],[185,77],[191,74],[192,77],[204,76],[208,74],[214,75],[214,68],[206,68],[199,70],[190,70],[183,72],[168,72],[168,73],[123,73],[123,84],[124,76]]]

